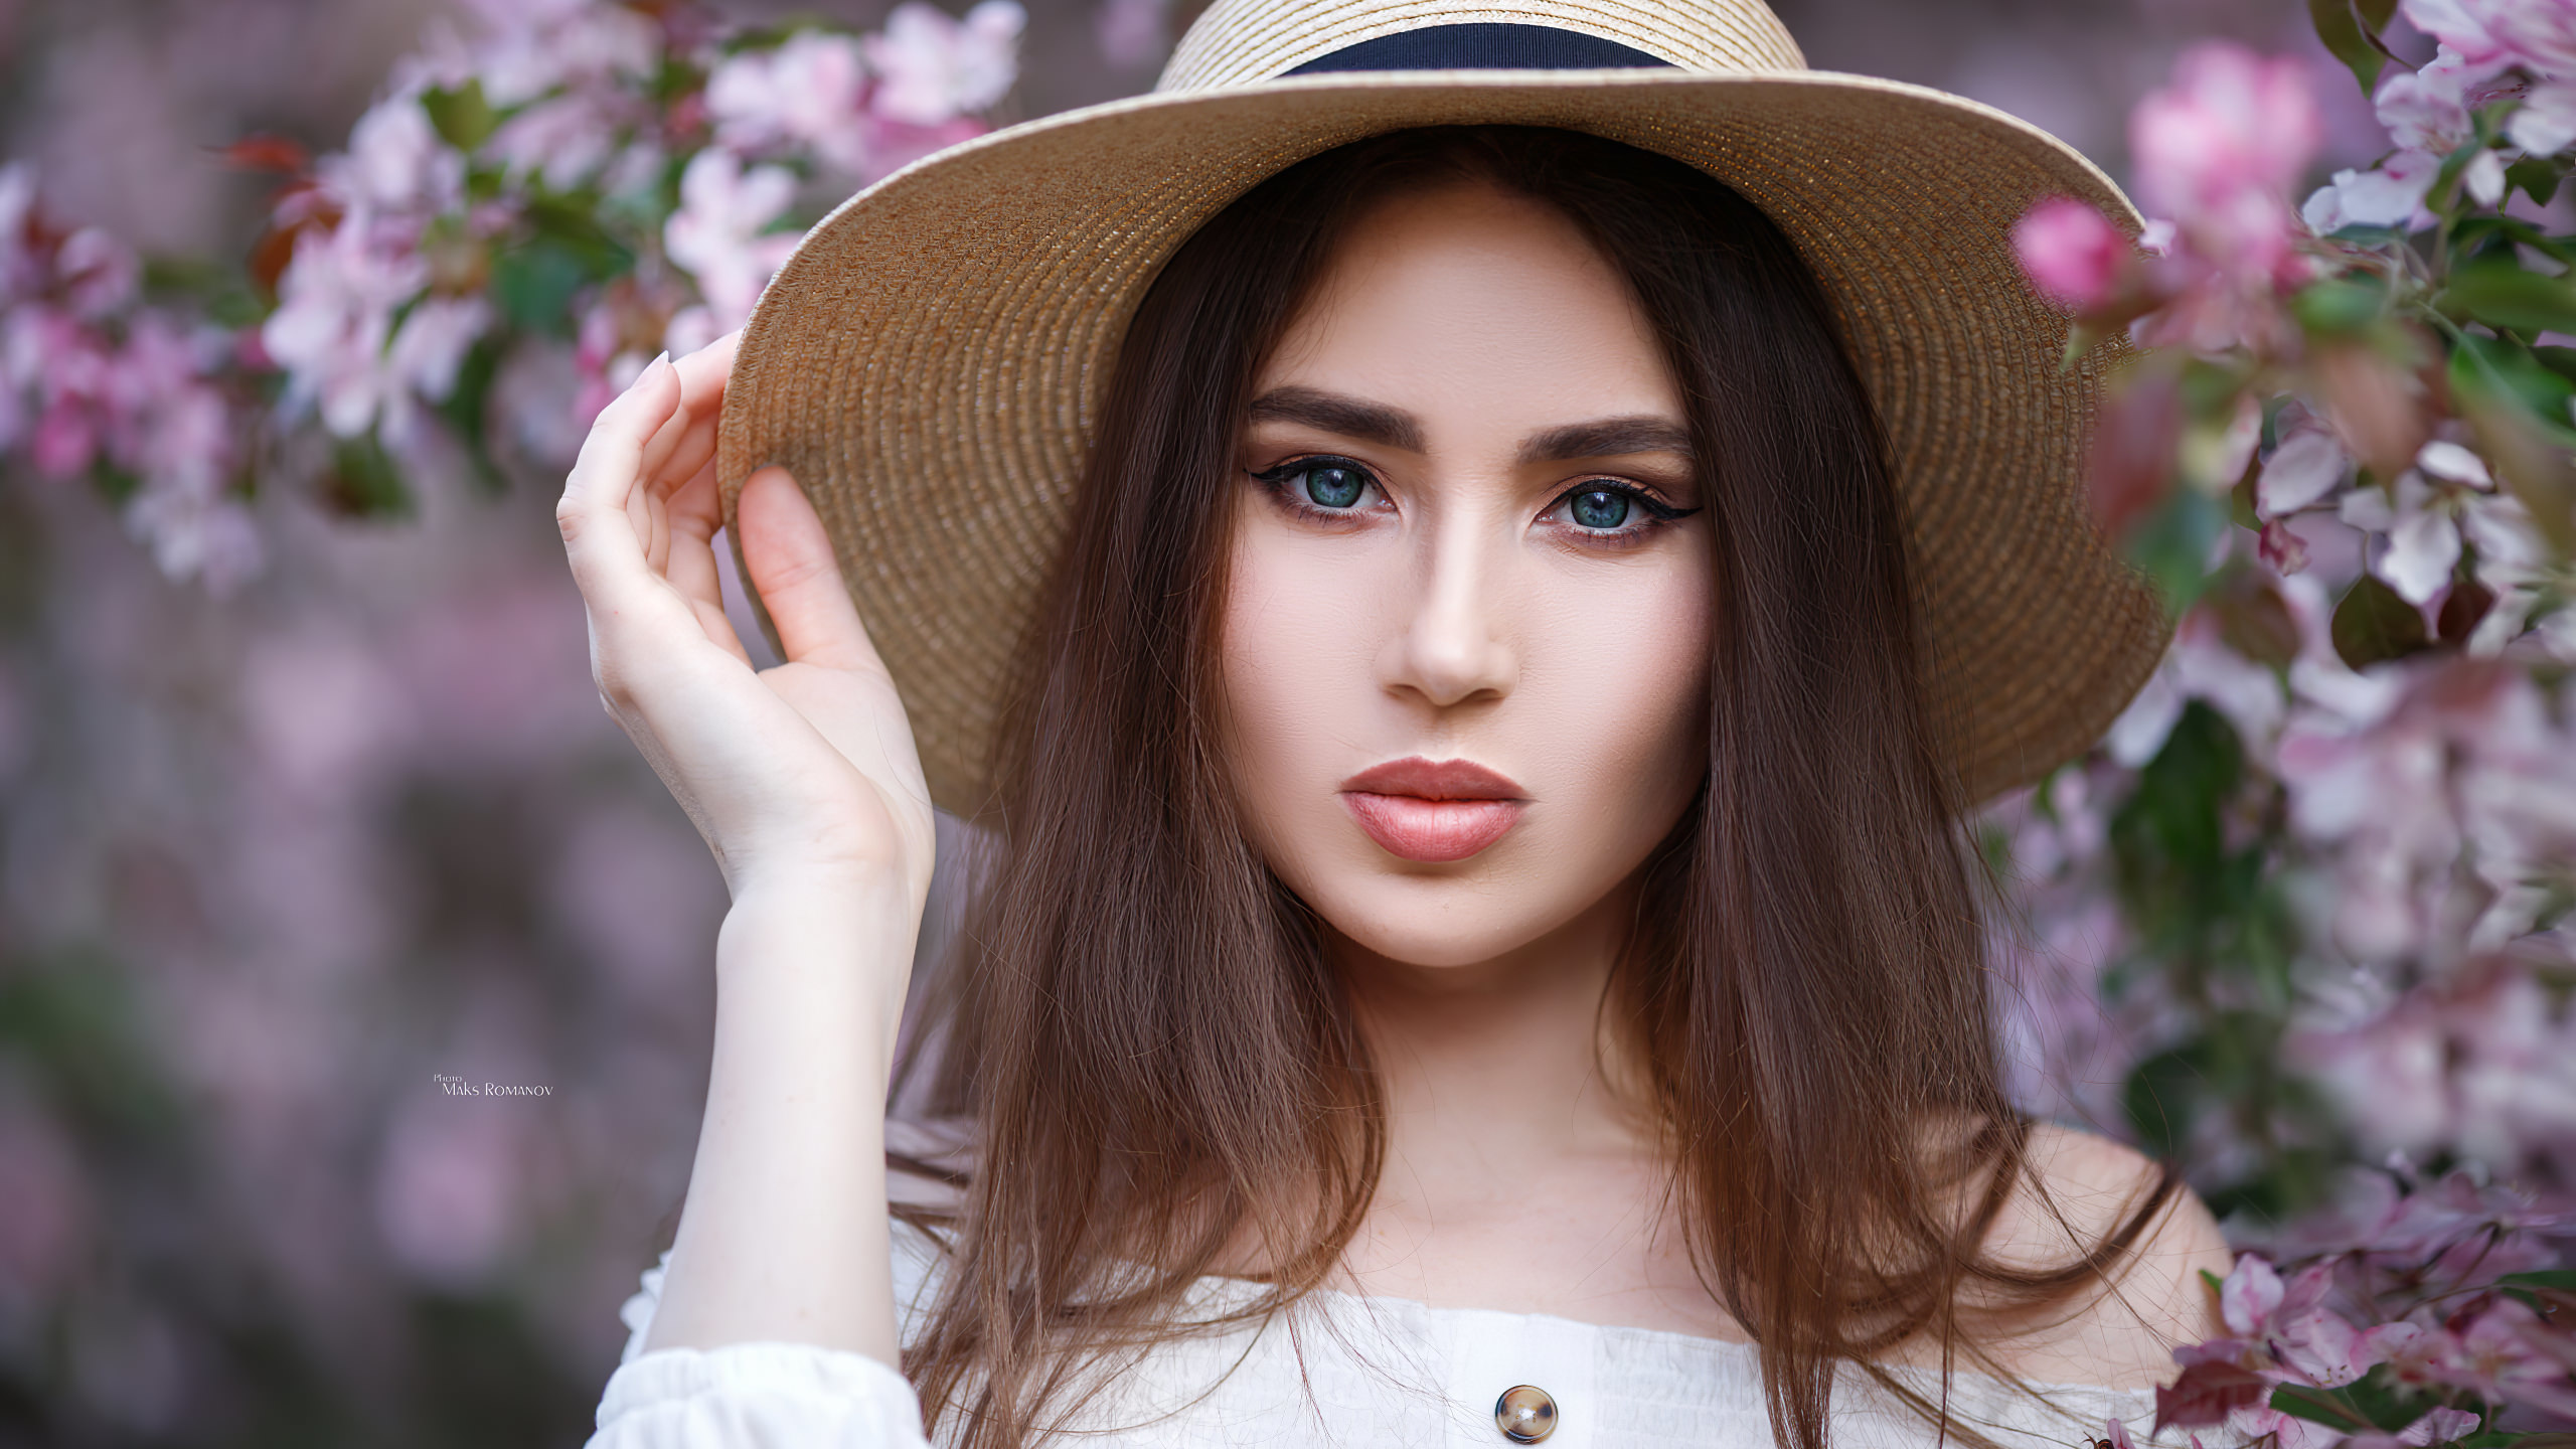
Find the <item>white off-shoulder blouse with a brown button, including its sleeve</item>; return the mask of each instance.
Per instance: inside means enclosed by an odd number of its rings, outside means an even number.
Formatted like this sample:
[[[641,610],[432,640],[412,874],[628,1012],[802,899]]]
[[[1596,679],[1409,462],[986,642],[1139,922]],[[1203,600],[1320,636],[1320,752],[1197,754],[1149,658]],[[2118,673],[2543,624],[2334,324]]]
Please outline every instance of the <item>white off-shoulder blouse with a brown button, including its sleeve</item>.
[[[670,1256],[662,1256],[670,1263]],[[909,1341],[938,1289],[938,1243],[894,1225],[894,1284]],[[644,1354],[662,1269],[626,1299],[626,1356],[600,1400],[592,1449],[917,1449],[920,1403],[891,1366],[806,1343]],[[1195,1310],[1252,1292],[1206,1279]],[[1899,1369],[1937,1400],[1940,1377]],[[1288,1315],[1154,1346],[1074,1423],[1072,1444],[1113,1449],[1510,1449],[1494,1400],[1512,1387],[1556,1405],[1546,1449],[1770,1449],[1752,1346],[1535,1312],[1427,1307],[1319,1292]],[[2146,1444],[2154,1390],[1950,1377],[1950,1413],[2004,1449],[2089,1449],[2120,1418]],[[1834,1449],[1935,1449],[1940,1436],[1865,1374],[1834,1390]]]

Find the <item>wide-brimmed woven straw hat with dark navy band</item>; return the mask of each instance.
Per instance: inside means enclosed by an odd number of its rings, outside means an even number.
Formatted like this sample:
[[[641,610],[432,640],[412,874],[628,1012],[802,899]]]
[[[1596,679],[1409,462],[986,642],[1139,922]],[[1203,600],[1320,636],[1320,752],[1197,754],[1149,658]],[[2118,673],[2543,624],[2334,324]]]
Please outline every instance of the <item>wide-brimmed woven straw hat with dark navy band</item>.
[[[930,794],[971,812],[1110,358],[1172,250],[1378,131],[1592,131],[1734,186],[1806,255],[1886,418],[1960,781],[2038,779],[2117,717],[2166,619],[2084,503],[2105,364],[2058,366],[2066,320],[2009,232],[2050,193],[2136,214],[2002,111],[1803,64],[1759,0],[1216,0],[1151,95],[940,152],[806,235],[734,361],[726,521],[752,469],[796,474]]]

